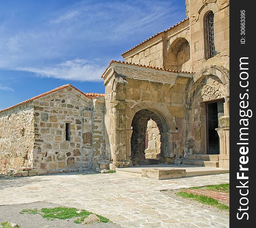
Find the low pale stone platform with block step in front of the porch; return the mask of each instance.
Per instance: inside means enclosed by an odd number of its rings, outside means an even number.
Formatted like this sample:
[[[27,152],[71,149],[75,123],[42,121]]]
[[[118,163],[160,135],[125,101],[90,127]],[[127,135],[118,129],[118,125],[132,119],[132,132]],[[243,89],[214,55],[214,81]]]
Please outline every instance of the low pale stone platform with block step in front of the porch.
[[[137,177],[164,180],[182,177],[195,177],[213,174],[229,173],[229,169],[215,167],[200,167],[192,165],[138,165],[127,168],[116,168],[116,173]]]

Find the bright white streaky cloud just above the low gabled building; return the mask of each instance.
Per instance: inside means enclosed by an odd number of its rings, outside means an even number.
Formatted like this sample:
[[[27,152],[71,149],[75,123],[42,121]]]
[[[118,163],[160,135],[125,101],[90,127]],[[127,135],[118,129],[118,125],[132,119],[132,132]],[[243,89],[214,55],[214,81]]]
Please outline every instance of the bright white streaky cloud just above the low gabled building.
[[[38,76],[76,81],[100,81],[105,67],[85,59],[67,60],[60,64],[42,67],[20,67],[17,70],[36,73]]]

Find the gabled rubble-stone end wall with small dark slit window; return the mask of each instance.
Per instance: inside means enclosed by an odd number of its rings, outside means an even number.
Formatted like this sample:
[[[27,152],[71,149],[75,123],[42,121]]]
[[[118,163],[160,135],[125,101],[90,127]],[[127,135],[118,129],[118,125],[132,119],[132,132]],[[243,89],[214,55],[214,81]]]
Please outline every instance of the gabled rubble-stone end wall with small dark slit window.
[[[35,150],[33,169],[38,174],[81,171],[92,168],[92,133],[97,123],[91,99],[72,87],[60,90],[34,101]],[[99,112],[102,110],[100,109]],[[96,121],[96,122],[95,122]],[[70,124],[70,140],[66,139],[66,123]],[[101,127],[99,130],[101,130]],[[105,148],[98,150],[104,153]],[[103,150],[103,151],[102,151]]]

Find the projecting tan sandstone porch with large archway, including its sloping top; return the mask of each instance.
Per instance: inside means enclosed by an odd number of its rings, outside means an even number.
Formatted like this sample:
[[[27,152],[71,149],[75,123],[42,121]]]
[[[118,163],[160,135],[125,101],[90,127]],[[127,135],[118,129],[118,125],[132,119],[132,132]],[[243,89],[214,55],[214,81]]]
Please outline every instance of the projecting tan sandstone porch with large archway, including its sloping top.
[[[182,155],[183,97],[191,77],[189,73],[110,63],[103,79],[106,153],[112,162],[111,169],[143,162],[146,125],[150,119],[161,132],[161,161],[172,163],[175,155]]]

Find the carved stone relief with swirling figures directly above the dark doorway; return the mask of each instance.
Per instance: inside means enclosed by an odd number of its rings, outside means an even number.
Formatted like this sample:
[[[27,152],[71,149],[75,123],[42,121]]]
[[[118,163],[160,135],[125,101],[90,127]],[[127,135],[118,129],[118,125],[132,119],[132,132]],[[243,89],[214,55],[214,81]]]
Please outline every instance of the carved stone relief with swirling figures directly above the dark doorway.
[[[225,96],[225,89],[218,81],[211,81],[203,86],[201,95],[204,101],[222,98]]]

